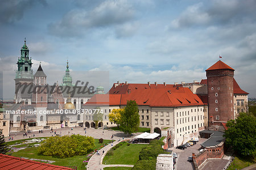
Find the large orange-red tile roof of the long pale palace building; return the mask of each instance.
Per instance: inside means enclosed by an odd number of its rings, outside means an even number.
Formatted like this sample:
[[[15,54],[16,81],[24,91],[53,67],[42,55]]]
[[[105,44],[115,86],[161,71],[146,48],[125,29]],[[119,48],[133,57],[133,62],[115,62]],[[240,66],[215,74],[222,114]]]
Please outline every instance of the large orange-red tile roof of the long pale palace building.
[[[117,90],[119,91],[118,95],[115,95]],[[115,88],[113,86],[109,94],[94,95],[84,105],[108,105],[108,99],[109,105],[126,105],[127,100],[135,100],[138,105],[148,105],[150,107],[204,104],[199,96],[193,94],[187,87],[175,87],[173,84],[166,86],[164,84],[158,84],[158,86],[155,86],[155,84],[153,86],[152,84],[150,86],[148,84],[125,84]]]

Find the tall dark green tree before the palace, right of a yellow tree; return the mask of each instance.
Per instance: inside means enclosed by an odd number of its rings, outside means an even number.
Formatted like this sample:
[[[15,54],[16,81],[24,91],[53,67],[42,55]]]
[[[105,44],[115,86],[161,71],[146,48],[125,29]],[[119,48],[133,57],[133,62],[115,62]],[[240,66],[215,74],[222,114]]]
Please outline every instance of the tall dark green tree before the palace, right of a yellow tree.
[[[139,113],[136,101],[127,101],[126,107],[121,114],[120,130],[124,133],[134,133],[139,127]]]

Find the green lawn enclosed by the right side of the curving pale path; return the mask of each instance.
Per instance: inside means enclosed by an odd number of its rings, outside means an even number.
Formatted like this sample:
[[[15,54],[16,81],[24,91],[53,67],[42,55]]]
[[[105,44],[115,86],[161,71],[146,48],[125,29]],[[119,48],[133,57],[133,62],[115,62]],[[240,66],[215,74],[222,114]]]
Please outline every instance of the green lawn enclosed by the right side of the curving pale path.
[[[147,145],[124,143],[122,146],[110,151],[113,151],[113,155],[105,156],[103,164],[127,164],[134,165],[139,160],[139,152]]]

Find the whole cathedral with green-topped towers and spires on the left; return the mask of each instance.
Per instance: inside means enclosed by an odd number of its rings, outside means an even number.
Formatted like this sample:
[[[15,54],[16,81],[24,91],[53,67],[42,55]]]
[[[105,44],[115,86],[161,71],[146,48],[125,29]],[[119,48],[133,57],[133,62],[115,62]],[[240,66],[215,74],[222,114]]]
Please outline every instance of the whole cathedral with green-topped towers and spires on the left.
[[[20,52],[14,79],[15,104],[9,108],[10,132],[83,126],[83,116],[77,111],[93,92],[81,93],[81,88],[88,88],[73,84],[68,61],[63,82],[49,85],[41,63],[33,74],[26,40]]]

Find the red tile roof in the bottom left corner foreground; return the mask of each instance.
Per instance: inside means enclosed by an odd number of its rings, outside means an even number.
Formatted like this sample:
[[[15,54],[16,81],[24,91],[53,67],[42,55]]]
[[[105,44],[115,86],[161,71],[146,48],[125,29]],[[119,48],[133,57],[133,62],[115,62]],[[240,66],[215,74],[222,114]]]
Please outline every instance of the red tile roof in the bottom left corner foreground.
[[[72,169],[0,154],[0,169]]]

